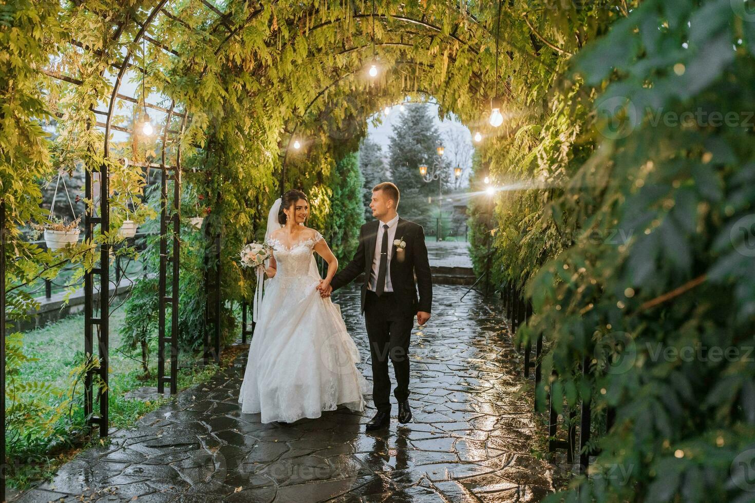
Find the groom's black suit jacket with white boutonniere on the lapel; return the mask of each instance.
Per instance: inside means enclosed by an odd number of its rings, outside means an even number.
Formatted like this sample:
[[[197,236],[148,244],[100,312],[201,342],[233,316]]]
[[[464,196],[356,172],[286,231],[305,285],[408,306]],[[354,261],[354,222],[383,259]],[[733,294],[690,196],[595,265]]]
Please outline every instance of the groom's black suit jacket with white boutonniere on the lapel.
[[[365,283],[362,284],[362,312],[365,310],[365,297],[377,243],[377,229],[380,225],[380,220],[362,225],[359,230],[359,247],[354,253],[354,258],[331,281],[331,286],[335,291],[351,283],[364,272],[366,277]],[[396,246],[393,243],[388,244],[393,247],[390,259],[390,283],[393,287],[393,295],[407,314],[413,315],[417,311],[429,313],[433,303],[433,276],[430,274],[430,262],[427,259],[424,230],[421,225],[399,218],[395,239],[399,238],[406,243],[402,261],[398,259]],[[416,284],[414,283],[415,274],[417,275]]]

